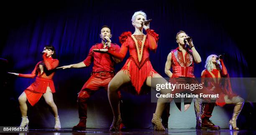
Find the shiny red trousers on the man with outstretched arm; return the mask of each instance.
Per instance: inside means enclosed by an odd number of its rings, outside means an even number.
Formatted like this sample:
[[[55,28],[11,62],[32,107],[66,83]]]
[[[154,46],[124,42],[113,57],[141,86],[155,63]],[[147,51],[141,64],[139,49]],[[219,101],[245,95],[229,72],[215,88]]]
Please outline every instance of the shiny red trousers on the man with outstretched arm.
[[[104,76],[102,76],[104,75]],[[85,82],[82,90],[78,93],[78,113],[80,122],[85,122],[87,119],[87,100],[93,95],[97,90],[103,88],[108,91],[108,83],[114,77],[114,75],[98,74],[92,75],[87,82]],[[118,91],[120,98],[120,91]]]

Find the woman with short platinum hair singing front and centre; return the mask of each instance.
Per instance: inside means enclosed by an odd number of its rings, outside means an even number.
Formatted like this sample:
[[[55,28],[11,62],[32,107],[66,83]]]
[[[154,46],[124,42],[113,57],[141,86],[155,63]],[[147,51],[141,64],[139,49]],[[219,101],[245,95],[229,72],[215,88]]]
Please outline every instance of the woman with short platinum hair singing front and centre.
[[[149,60],[149,51],[156,51],[158,34],[154,30],[149,29],[149,23],[145,24],[146,13],[142,11],[135,12],[132,16],[132,25],[135,28],[134,33],[123,32],[119,37],[120,43],[122,44],[120,52],[113,50],[101,50],[106,51],[117,57],[123,59],[129,50],[130,57],[125,62],[123,68],[115,75],[108,85],[108,99],[113,110],[114,119],[110,126],[111,131],[119,130],[120,123],[122,122],[120,117],[120,109],[118,104],[118,88],[127,83],[131,82],[135,87],[137,93],[140,93],[143,83],[146,81],[146,85],[151,87],[152,77],[161,77],[152,67]],[[143,34],[143,28],[147,34]],[[161,77],[162,78],[162,77]],[[167,81],[166,81],[167,82]],[[159,82],[164,83],[164,82]],[[171,90],[162,90],[161,93],[170,93]],[[159,98],[160,99],[160,98]],[[165,101],[160,99],[162,102],[157,103],[156,112],[153,115],[152,124],[154,130],[165,130],[161,124],[161,114],[164,110]],[[168,100],[168,99],[167,99]],[[166,101],[167,102],[167,101]]]

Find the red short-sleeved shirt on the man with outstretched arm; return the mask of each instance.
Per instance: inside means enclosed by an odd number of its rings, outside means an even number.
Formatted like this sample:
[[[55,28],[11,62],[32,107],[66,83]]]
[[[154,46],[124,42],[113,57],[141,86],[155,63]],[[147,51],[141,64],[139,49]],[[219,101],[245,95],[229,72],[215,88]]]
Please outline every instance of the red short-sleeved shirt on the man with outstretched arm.
[[[91,47],[88,56],[84,60],[84,64],[88,67],[93,61],[92,72],[114,71],[115,61],[113,60],[112,56],[107,52],[106,53],[93,52],[92,51],[93,49],[103,49],[103,44],[97,43]],[[119,52],[120,46],[117,44],[111,43],[111,47],[109,47],[108,50]]]

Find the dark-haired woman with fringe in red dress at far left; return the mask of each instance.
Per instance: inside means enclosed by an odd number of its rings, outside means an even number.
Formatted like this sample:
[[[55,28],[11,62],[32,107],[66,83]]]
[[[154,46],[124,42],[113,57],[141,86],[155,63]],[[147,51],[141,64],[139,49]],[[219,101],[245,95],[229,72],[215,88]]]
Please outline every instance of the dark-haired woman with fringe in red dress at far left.
[[[54,112],[55,129],[60,129],[61,124],[59,121],[58,110],[54,103],[52,93],[55,92],[54,82],[52,78],[56,72],[56,67],[59,65],[59,60],[56,59],[56,51],[54,46],[46,45],[44,47],[43,60],[36,64],[36,67],[31,74],[18,74],[9,72],[10,74],[17,75],[19,77],[34,78],[36,75],[36,81],[33,82],[18,98],[20,103],[20,112],[22,121],[20,127],[28,126],[27,116],[27,104],[26,101],[33,106],[35,105],[41,96],[44,97],[46,103],[51,107]]]

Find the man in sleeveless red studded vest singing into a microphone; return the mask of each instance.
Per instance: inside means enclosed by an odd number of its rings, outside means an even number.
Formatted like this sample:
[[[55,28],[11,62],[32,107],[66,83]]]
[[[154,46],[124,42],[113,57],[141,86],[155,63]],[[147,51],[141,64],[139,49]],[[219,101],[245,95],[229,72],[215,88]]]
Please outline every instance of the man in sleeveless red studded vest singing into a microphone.
[[[198,82],[195,80],[194,75],[194,62],[200,63],[201,57],[197,50],[194,47],[194,44],[192,42],[192,38],[187,36],[187,34],[184,31],[179,31],[176,35],[176,42],[178,43],[179,47],[172,50],[169,55],[167,56],[166,64],[165,64],[165,73],[170,77],[170,82],[175,83],[178,82],[179,84],[197,84]],[[188,47],[187,47],[188,45]],[[190,49],[189,49],[190,48]],[[172,67],[172,72],[171,72]],[[187,92],[186,90],[174,90],[172,94],[179,93],[179,92]],[[199,93],[203,94],[213,94],[209,90],[203,88],[198,89],[194,91],[188,91],[190,93],[193,93],[195,95],[198,95]],[[210,100],[210,99],[204,99],[204,100]],[[197,99],[196,99],[197,101]],[[170,104],[167,104],[167,107],[169,107]],[[195,106],[195,111],[197,115],[197,125],[196,129],[201,129],[201,125],[203,128],[211,129],[211,130],[219,130],[219,127],[214,125],[209,118],[202,117],[203,120],[201,120],[201,115],[199,115],[199,110],[197,108],[201,108],[202,104],[197,104],[198,106]],[[185,110],[187,110],[189,107],[189,104],[185,105]],[[211,115],[213,111],[214,103],[206,103],[204,114],[205,115]],[[164,122],[168,122],[168,116],[169,116],[169,110],[165,110],[167,113],[167,117],[162,117]],[[166,120],[167,119],[167,120]],[[164,123],[167,124],[167,123]],[[163,124],[163,125],[164,125]]]

